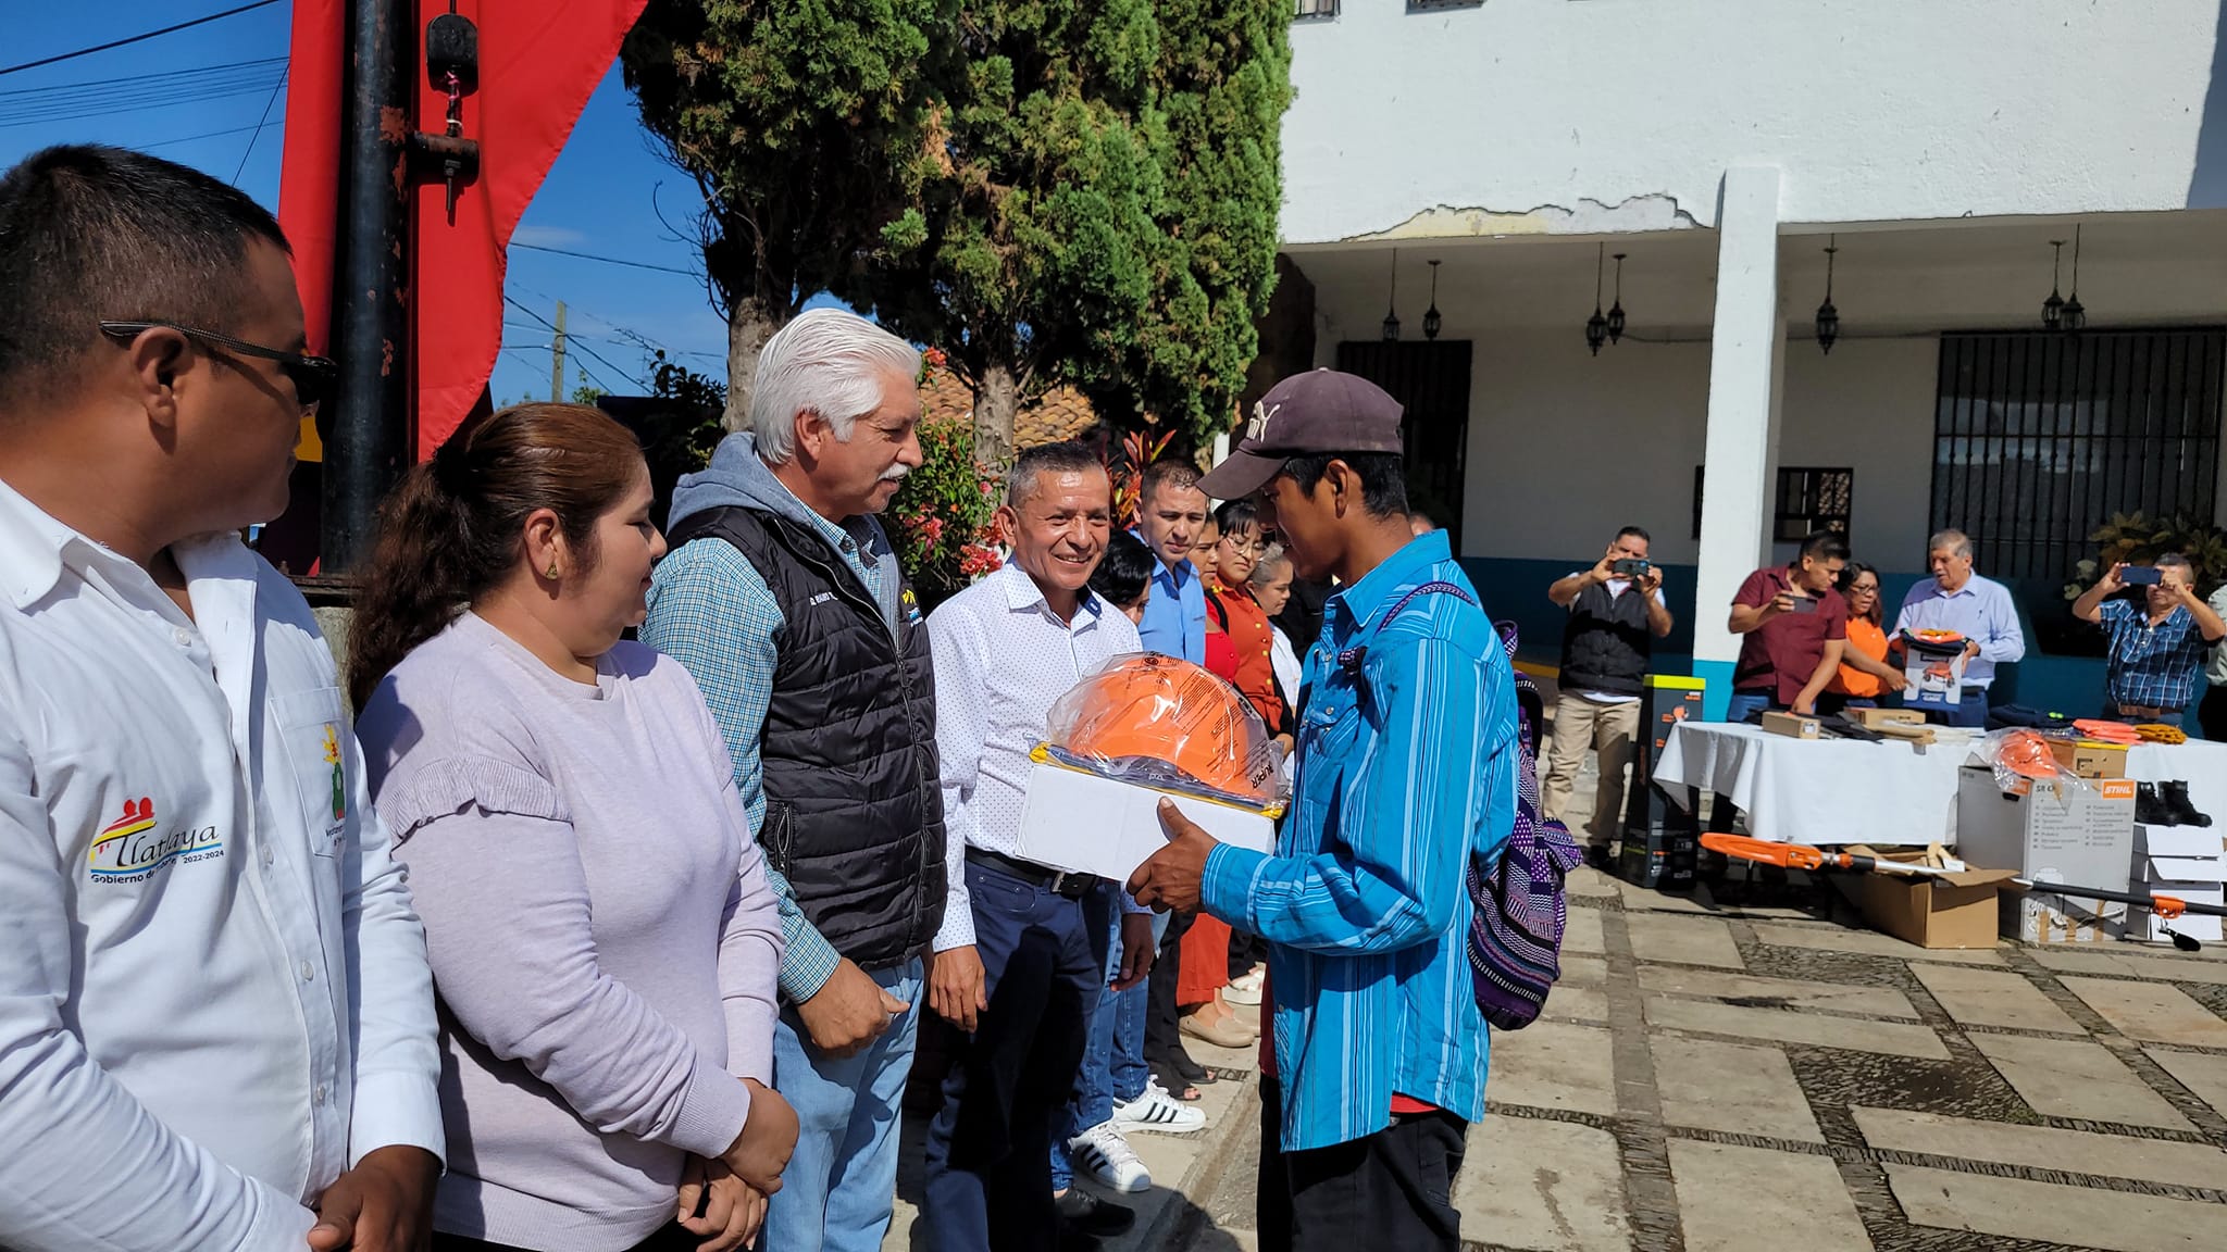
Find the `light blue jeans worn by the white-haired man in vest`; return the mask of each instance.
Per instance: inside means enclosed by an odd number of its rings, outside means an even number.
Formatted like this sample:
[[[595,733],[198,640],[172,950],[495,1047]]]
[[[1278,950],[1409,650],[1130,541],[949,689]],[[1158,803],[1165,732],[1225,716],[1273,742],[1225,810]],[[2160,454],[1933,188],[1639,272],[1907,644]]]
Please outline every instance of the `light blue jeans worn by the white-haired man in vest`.
[[[797,1152],[759,1248],[880,1252],[897,1194],[897,1114],[920,1034],[922,962],[871,974],[913,1005],[855,1056],[822,1056],[797,1009],[773,1027],[773,1089],[797,1109]]]

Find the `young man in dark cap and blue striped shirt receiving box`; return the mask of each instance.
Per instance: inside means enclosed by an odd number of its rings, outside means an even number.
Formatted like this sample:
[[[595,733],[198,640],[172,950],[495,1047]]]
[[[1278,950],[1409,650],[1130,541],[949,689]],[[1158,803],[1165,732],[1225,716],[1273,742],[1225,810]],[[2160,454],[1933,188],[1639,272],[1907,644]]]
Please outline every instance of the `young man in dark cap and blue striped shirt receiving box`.
[[[1445,535],[1410,530],[1399,419],[1363,379],[1298,374],[1203,479],[1256,497],[1298,575],[1338,593],[1305,662],[1276,853],[1162,804],[1169,842],[1129,880],[1142,904],[1269,942],[1263,1248],[1459,1248],[1448,1196],[1485,1112],[1463,880],[1514,824],[1514,677]]]

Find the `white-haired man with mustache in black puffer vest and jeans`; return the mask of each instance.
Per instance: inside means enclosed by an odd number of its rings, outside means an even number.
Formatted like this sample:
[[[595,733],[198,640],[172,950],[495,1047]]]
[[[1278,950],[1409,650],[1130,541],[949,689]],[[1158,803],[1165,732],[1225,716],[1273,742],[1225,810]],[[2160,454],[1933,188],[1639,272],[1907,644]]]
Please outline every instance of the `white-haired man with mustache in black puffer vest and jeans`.
[[[766,1248],[880,1250],[944,916],[929,633],[873,519],[920,466],[918,368],[837,310],[766,341],[748,428],[673,495],[641,626],[704,688],[782,896],[773,1087],[802,1134]]]

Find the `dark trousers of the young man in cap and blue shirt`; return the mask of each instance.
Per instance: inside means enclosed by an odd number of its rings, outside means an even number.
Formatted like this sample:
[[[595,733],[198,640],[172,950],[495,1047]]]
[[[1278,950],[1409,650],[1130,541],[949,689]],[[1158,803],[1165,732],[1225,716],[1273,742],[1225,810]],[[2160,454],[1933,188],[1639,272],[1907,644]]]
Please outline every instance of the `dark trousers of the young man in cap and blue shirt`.
[[[1283,1098],[1260,1080],[1260,1252],[1461,1252],[1454,1176],[1470,1123],[1450,1112],[1307,1152],[1285,1152]]]

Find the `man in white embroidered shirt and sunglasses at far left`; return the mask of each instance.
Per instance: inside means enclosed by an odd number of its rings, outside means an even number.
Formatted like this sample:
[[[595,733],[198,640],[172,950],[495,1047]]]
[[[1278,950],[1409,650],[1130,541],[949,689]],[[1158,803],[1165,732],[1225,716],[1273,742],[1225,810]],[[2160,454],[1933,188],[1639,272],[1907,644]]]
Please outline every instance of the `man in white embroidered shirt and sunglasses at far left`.
[[[238,530],[287,501],[285,236],[214,178],[0,178],[0,1245],[405,1252],[432,976],[332,655]]]

